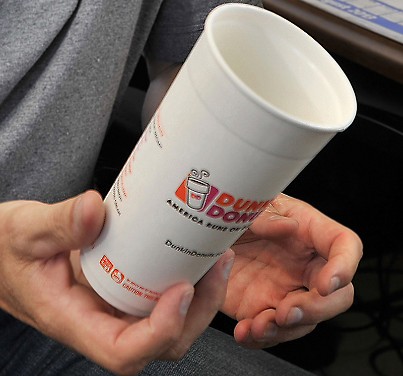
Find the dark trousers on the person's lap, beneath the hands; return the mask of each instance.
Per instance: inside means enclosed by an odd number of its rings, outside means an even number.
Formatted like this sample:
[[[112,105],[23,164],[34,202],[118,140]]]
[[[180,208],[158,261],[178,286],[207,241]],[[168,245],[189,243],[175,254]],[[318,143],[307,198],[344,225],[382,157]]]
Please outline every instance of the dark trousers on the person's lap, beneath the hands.
[[[112,376],[106,369],[66,349],[0,311],[0,376]],[[208,328],[177,361],[154,361],[140,376],[309,376],[310,373],[262,350],[248,350]]]

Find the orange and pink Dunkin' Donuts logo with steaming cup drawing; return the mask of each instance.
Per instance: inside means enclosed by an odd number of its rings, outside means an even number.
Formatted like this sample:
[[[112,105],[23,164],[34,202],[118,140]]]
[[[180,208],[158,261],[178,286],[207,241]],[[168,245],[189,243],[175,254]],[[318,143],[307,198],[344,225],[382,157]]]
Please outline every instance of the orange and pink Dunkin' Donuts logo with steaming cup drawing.
[[[213,219],[221,218],[226,223],[251,222],[270,203],[270,200],[255,201],[221,192],[206,181],[209,177],[206,170],[192,169],[175,191],[175,196],[188,208],[205,212]]]

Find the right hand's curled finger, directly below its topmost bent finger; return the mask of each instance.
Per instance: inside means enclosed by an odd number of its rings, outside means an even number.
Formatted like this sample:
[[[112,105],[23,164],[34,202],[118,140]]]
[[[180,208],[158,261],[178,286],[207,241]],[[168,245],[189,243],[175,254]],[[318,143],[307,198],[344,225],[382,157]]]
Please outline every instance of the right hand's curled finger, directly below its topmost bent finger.
[[[327,296],[320,295],[316,289],[294,291],[277,307],[276,323],[281,327],[317,324],[347,311],[353,297],[352,283]]]

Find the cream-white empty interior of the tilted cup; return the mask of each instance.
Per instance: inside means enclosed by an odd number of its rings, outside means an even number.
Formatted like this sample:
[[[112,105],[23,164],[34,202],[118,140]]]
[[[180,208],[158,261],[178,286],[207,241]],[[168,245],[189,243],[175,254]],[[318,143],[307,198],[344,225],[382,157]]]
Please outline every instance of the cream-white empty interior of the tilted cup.
[[[257,7],[223,7],[209,20],[227,74],[281,116],[320,127],[348,126],[356,101],[340,66],[310,36]]]

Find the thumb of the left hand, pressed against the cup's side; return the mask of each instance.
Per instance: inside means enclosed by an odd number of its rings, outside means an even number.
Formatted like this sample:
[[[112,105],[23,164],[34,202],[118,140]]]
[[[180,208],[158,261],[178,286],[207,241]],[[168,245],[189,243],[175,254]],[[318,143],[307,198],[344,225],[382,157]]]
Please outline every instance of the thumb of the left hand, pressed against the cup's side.
[[[99,236],[105,218],[100,194],[87,191],[55,204],[15,201],[7,231],[13,251],[22,257],[50,258],[89,246]]]

